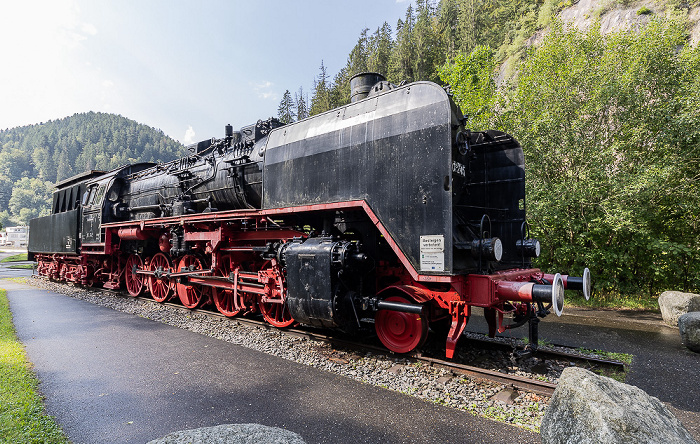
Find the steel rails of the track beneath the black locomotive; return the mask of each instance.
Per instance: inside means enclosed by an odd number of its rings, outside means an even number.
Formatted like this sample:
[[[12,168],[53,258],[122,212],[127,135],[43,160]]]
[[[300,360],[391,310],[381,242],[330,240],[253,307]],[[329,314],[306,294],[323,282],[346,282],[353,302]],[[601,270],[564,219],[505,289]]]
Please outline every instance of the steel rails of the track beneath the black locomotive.
[[[104,291],[104,290],[100,290]],[[125,298],[125,299],[133,299],[131,296],[124,295],[122,292],[119,291],[113,291],[113,290],[107,290],[107,292],[114,294],[118,297]],[[164,303],[159,303],[154,301],[153,299],[147,298],[147,297],[137,297],[137,300],[150,303],[150,304],[156,304],[156,305],[164,305],[173,309],[177,310],[182,310],[186,311],[189,313],[198,313],[202,314],[205,316],[210,316],[210,317],[215,317],[215,318],[220,318],[220,319],[226,319],[229,320],[230,322],[236,322],[238,324],[242,325],[247,325],[249,327],[257,327],[257,328],[263,328],[266,330],[271,330],[271,331],[278,331],[286,335],[291,335],[291,336],[297,336],[297,337],[303,337],[315,341],[320,341],[323,343],[328,343],[334,348],[344,348],[344,349],[349,349],[353,351],[361,351],[361,352],[372,352],[375,354],[384,354],[384,355],[391,355],[392,352],[387,350],[384,347],[381,347],[379,345],[372,345],[372,344],[367,344],[367,343],[360,343],[354,340],[346,339],[338,335],[337,333],[334,333],[333,335],[327,334],[323,331],[313,329],[313,328],[306,328],[306,327],[289,327],[285,329],[279,329],[276,328],[265,321],[262,320],[257,320],[257,319],[251,319],[251,318],[245,318],[245,317],[236,317],[236,318],[229,318],[224,316],[221,313],[218,313],[216,311],[211,311],[211,310],[206,310],[206,309],[189,309],[187,307],[184,307],[180,304],[177,303],[172,303],[172,302],[164,302]],[[490,340],[478,340],[478,339],[473,339],[473,338],[463,338],[465,342],[469,342],[472,346],[477,346],[477,347],[485,347],[485,348],[490,348],[490,349],[499,349],[503,351],[508,351],[510,349],[512,351],[512,346],[504,343],[499,343],[495,341],[490,341]],[[519,390],[524,390],[532,393],[536,393],[539,395],[544,395],[551,397],[554,389],[556,388],[556,384],[548,382],[548,381],[542,381],[538,379],[533,379],[533,378],[528,378],[524,376],[519,376],[519,375],[514,375],[514,374],[509,374],[509,373],[504,373],[504,372],[499,372],[495,370],[489,370],[473,365],[468,365],[464,363],[459,363],[459,362],[452,362],[452,361],[447,361],[444,359],[439,359],[433,356],[429,356],[428,354],[424,354],[423,352],[416,351],[413,353],[401,355],[403,358],[408,359],[412,362],[420,362],[423,363],[424,365],[429,365],[433,366],[436,368],[442,368],[445,370],[448,370],[452,372],[455,375],[468,375],[471,377],[487,380],[487,381],[493,381],[497,382],[500,384],[512,386],[513,388],[519,389]],[[590,356],[584,356],[581,354],[576,354],[576,353],[564,353],[564,352],[558,352],[558,351],[551,351],[551,350],[540,350],[537,352],[537,357],[540,359],[566,359],[571,362],[578,362],[582,366],[599,366],[599,365],[605,365],[608,367],[618,367],[622,370],[624,370],[624,364],[619,361],[612,361],[612,360],[606,360],[606,359],[599,359],[599,358],[594,358]]]

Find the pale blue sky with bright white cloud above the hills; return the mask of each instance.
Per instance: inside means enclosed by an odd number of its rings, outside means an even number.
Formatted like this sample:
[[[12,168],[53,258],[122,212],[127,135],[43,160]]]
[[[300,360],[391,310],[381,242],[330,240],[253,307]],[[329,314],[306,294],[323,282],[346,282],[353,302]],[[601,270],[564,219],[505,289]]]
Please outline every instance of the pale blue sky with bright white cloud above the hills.
[[[0,130],[88,111],[185,144],[311,96],[409,0],[0,0]]]

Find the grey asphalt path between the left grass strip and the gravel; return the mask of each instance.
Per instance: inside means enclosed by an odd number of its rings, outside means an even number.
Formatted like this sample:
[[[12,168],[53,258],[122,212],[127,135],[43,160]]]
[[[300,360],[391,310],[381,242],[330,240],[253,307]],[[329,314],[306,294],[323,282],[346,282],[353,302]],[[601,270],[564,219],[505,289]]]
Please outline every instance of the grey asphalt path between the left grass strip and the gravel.
[[[75,443],[259,423],[308,443],[529,443],[466,412],[3,281],[46,408]]]

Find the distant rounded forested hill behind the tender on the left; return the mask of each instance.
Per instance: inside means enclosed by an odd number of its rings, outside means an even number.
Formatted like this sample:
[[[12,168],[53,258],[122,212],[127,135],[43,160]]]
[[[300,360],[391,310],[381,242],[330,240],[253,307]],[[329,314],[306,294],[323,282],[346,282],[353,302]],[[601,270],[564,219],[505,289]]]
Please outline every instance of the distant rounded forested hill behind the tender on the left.
[[[48,214],[53,184],[87,170],[181,157],[162,131],[105,113],[0,131],[0,223],[27,224]]]

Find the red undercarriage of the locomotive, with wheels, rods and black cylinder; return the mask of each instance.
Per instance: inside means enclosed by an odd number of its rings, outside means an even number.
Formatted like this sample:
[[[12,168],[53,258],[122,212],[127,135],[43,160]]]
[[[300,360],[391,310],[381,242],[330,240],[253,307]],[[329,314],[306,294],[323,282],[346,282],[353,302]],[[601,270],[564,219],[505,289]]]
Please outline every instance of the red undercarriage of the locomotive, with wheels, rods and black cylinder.
[[[105,224],[105,242],[83,245],[79,256],[37,254],[38,273],[158,302],[177,299],[191,309],[213,305],[229,317],[262,315],[276,327],[374,329],[397,353],[420,347],[430,329],[445,338],[450,358],[471,307],[484,308],[490,336],[528,322],[536,347],[537,322],[561,310],[563,290],[590,285],[587,275],[537,269],[420,275],[400,251],[394,254],[391,237],[363,202],[302,211],[300,220],[314,226],[296,226],[297,214],[285,210]]]

